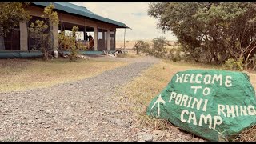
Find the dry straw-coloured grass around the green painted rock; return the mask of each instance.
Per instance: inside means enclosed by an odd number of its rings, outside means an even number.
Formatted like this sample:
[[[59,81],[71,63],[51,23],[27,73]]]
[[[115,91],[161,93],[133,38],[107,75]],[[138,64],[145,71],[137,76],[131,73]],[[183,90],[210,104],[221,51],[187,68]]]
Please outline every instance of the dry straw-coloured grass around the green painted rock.
[[[197,64],[190,62],[170,62],[162,60],[162,62],[155,64],[150,69],[145,70],[141,77],[134,78],[126,86],[122,87],[125,92],[126,100],[123,102],[129,106],[137,115],[137,126],[150,126],[154,130],[170,130],[170,122],[158,118],[150,118],[146,115],[146,108],[150,101],[159,94],[163,88],[170,82],[172,76],[178,71],[191,70],[191,69],[218,69],[222,70],[221,66],[212,66],[206,64]],[[256,74],[250,73],[250,82],[256,88]],[[119,101],[125,101],[120,98]],[[240,137],[245,141],[256,141],[255,126],[251,129],[245,130],[240,134]],[[251,136],[248,136],[250,134]]]

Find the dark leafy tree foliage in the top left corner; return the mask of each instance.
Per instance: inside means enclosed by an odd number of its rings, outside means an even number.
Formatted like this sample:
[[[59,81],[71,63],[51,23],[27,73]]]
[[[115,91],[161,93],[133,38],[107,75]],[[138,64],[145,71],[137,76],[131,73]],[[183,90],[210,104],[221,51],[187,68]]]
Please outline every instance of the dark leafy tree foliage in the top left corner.
[[[19,22],[30,18],[30,14],[23,8],[23,6],[27,5],[29,5],[28,2],[0,3],[0,36],[6,36],[10,30],[19,25]]]

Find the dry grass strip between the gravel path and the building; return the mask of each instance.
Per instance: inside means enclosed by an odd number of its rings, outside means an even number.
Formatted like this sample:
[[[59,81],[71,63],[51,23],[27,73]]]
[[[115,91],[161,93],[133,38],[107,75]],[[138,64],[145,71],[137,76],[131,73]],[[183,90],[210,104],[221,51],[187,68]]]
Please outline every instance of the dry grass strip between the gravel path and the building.
[[[26,90],[73,82],[101,74],[126,62],[108,60],[84,60],[69,62],[69,59],[54,59],[42,62],[37,59],[5,59],[0,61],[0,92]]]

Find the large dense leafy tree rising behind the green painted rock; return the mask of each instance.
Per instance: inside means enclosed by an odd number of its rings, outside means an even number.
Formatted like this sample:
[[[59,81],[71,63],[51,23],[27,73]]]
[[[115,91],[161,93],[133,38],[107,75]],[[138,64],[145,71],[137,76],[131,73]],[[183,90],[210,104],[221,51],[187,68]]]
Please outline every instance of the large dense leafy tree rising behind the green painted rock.
[[[157,2],[150,3],[148,14],[158,19],[158,28],[171,30],[182,50],[195,61],[222,64],[234,58],[243,59],[245,67],[252,66],[256,53],[255,3]]]

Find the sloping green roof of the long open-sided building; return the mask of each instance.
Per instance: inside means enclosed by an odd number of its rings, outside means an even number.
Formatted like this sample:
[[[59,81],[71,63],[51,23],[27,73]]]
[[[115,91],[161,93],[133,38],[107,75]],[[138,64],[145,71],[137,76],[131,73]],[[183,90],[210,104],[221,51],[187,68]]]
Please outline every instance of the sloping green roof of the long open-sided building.
[[[102,22],[114,24],[118,26],[118,28],[129,28],[128,26],[126,26],[126,24],[122,22],[117,22],[109,18],[104,18],[102,16],[94,14],[90,10],[86,9],[86,7],[77,6],[69,2],[32,2],[32,3],[38,6],[49,6],[50,3],[53,3],[56,10],[62,10],[70,14],[78,14],[87,18],[93,18]]]

